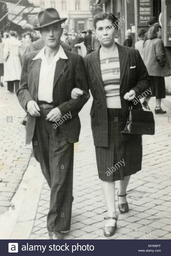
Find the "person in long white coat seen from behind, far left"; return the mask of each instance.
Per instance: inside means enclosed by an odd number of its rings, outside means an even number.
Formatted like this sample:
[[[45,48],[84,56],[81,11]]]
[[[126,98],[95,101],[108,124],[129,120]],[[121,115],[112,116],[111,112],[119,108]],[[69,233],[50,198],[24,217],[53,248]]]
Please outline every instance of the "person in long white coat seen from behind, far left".
[[[4,45],[4,81],[7,82],[7,88],[10,93],[14,93],[19,88],[19,81],[21,77],[21,61],[20,50],[21,41],[16,39],[15,31],[9,32],[9,39],[5,41]]]

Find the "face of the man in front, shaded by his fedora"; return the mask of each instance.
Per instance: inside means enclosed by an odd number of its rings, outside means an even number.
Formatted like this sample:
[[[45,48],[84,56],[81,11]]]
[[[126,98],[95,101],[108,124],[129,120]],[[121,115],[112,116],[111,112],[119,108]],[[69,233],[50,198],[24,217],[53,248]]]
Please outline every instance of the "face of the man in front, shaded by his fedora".
[[[60,44],[62,35],[62,28],[60,23],[44,27],[41,29],[41,35],[46,46],[56,48]]]

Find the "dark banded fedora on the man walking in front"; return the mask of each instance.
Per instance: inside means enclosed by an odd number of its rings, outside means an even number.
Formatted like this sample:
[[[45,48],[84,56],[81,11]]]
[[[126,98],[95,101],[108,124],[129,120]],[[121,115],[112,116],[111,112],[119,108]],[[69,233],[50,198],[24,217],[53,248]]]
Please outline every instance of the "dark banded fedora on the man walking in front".
[[[47,8],[38,13],[39,25],[34,30],[40,30],[57,22],[65,22],[67,18],[61,19],[59,13],[54,8]]]

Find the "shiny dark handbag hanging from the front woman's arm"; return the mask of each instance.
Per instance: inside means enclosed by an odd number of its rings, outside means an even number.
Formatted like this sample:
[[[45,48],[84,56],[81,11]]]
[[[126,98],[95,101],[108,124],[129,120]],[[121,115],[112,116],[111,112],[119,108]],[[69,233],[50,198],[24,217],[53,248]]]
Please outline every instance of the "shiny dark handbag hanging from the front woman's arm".
[[[154,135],[154,116],[152,111],[150,111],[149,106],[147,111],[144,111],[143,109],[132,109],[131,106],[129,108],[126,125],[121,133]]]

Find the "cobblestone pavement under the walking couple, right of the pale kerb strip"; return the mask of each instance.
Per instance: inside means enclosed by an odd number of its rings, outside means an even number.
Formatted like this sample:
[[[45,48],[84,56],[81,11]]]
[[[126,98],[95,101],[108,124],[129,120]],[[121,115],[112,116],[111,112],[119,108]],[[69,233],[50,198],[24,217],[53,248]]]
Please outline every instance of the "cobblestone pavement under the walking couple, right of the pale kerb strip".
[[[154,110],[154,98],[149,105]],[[142,170],[132,175],[127,189],[130,211],[119,215],[115,235],[105,238],[106,206],[97,175],[90,106],[91,100],[80,112],[82,130],[75,144],[72,225],[64,239],[171,239],[171,110],[162,105],[167,114],[154,114],[155,135],[143,136]],[[49,239],[49,198],[50,190],[44,181],[30,239]]]

